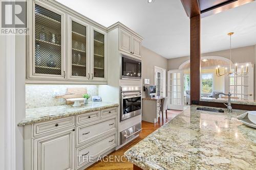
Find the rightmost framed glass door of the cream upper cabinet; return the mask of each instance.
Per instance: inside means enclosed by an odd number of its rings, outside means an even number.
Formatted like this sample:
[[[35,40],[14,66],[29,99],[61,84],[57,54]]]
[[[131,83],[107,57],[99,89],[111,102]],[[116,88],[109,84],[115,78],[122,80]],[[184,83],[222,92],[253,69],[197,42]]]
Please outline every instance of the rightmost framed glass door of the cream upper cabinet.
[[[93,74],[92,80],[106,79],[106,33],[93,28]]]

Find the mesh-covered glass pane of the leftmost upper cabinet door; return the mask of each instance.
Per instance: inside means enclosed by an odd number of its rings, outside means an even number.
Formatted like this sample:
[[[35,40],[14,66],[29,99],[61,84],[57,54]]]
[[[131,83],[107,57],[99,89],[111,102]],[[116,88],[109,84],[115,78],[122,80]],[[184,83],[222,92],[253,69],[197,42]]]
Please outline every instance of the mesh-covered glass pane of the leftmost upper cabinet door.
[[[35,5],[35,72],[61,75],[61,15]]]

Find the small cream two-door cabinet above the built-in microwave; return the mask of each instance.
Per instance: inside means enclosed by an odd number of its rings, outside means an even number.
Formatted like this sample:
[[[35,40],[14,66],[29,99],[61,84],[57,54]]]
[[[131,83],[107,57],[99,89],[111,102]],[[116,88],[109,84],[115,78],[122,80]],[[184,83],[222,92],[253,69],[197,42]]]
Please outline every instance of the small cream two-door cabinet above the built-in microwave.
[[[136,57],[141,57],[141,39],[119,28],[119,50]]]

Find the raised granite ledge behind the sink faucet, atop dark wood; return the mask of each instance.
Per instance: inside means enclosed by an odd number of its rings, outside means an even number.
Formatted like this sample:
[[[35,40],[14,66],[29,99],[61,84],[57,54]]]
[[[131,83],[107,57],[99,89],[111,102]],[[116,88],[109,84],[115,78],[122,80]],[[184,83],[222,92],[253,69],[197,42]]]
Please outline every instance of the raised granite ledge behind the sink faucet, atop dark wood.
[[[227,103],[228,100],[224,98],[201,98],[200,101],[203,102],[217,102],[217,103]],[[232,100],[231,104],[240,104],[240,105],[256,105],[256,101],[246,101],[246,100]]]

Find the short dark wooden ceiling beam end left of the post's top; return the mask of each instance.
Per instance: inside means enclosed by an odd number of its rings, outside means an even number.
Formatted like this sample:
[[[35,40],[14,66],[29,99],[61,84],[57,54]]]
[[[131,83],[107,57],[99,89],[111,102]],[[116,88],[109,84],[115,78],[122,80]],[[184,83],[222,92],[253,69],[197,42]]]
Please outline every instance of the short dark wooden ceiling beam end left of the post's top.
[[[198,0],[181,0],[181,3],[189,18],[200,15],[200,6]]]

